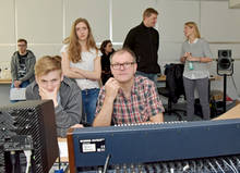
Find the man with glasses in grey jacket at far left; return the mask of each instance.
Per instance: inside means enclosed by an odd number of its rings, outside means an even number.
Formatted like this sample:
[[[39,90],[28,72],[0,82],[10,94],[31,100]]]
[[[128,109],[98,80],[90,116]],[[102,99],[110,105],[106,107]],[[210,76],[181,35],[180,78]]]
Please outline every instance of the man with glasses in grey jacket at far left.
[[[34,65],[36,58],[31,50],[27,50],[27,41],[25,39],[17,40],[17,51],[11,59],[12,88],[25,88],[32,83],[34,77]],[[12,100],[15,102],[17,100]]]

